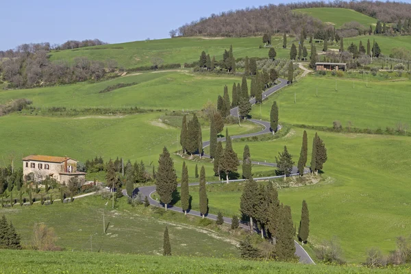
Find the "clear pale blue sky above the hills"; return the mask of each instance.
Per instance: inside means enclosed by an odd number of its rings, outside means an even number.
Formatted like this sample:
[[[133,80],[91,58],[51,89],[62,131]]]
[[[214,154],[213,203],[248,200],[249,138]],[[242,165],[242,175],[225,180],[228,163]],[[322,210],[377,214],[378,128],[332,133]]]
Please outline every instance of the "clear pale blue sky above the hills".
[[[1,4],[0,50],[29,42],[99,38],[129,42],[167,38],[169,31],[201,16],[290,0],[14,0]]]

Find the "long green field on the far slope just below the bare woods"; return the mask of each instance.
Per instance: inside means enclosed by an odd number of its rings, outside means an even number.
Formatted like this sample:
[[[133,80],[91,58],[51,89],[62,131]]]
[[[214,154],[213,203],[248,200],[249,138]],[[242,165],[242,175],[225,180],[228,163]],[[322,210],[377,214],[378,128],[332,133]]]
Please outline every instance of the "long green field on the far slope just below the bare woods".
[[[291,39],[288,39],[290,45]],[[289,58],[289,49],[282,49],[282,36],[273,36],[273,46],[277,51],[277,58]],[[199,60],[201,51],[216,60],[223,59],[225,49],[233,46],[235,58],[268,57],[269,49],[259,49],[262,45],[261,37],[251,38],[173,38],[149,41],[125,42],[122,44],[84,47],[81,49],[65,50],[51,53],[51,60],[73,60],[76,57],[86,56],[92,60],[106,61],[114,59],[126,69],[136,66],[151,66],[151,59],[162,58],[164,64],[191,63]]]

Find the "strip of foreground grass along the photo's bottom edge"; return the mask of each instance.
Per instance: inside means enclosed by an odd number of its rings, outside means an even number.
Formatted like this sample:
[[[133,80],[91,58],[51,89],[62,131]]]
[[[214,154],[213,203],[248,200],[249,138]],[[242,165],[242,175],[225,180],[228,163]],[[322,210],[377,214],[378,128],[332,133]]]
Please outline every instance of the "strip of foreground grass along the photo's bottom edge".
[[[173,248],[173,246],[172,246]],[[173,249],[172,249],[173,252]],[[173,253],[174,255],[174,253]],[[91,252],[0,251],[0,273],[409,273],[410,266],[366,269],[238,259],[142,256]]]

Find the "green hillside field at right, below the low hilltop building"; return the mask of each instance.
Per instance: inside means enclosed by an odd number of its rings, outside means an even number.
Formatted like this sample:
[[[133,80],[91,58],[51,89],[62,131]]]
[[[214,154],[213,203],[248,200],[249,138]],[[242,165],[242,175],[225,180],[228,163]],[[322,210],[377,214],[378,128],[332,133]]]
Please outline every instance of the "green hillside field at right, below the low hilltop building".
[[[268,121],[271,105],[276,100],[280,122],[332,127],[333,121],[338,120],[344,126],[351,121],[353,127],[372,129],[396,127],[399,122],[411,125],[410,82],[371,82],[371,79],[372,76],[366,88],[365,79],[353,82],[335,77],[306,77],[265,101],[262,118]],[[251,114],[259,118],[260,108],[253,108]]]

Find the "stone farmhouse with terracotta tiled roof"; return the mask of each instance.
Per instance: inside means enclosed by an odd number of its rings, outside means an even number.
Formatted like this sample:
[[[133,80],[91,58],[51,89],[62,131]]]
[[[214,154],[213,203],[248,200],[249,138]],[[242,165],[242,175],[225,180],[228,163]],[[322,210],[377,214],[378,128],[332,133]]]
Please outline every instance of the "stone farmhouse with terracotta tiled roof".
[[[86,173],[77,171],[77,161],[69,157],[29,155],[22,160],[23,177],[33,173],[36,182],[49,176],[60,184],[67,184],[72,177],[83,182],[86,177]]]

